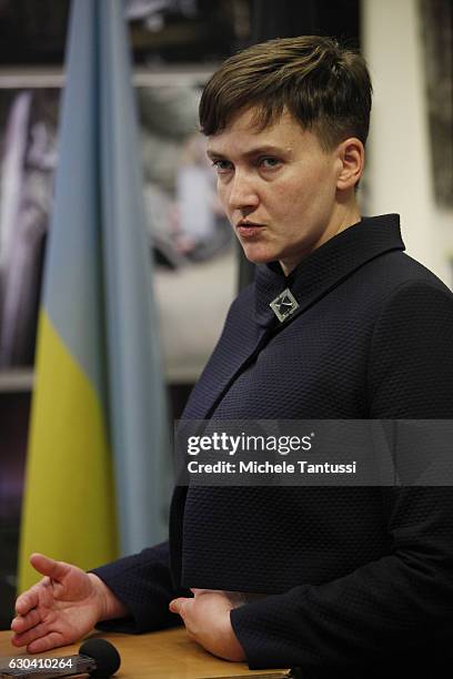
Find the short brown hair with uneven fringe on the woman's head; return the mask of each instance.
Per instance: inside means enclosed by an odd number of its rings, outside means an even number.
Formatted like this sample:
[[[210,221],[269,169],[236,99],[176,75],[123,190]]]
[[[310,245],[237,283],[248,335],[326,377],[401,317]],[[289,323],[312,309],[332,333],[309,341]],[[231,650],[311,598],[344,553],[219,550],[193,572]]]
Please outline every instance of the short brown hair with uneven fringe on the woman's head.
[[[364,144],[371,95],[366,63],[355,50],[322,36],[278,38],[223,62],[201,97],[200,125],[211,136],[256,107],[255,123],[264,129],[288,109],[324,149],[349,136]]]

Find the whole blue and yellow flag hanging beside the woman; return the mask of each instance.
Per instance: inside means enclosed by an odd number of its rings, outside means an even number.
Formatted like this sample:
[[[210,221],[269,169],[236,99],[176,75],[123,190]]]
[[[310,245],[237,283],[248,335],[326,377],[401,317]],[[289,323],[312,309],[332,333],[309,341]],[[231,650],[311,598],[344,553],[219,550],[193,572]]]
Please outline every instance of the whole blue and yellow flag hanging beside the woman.
[[[165,417],[121,0],[73,0],[41,302],[19,589],[164,533]],[[117,519],[118,517],[118,519]]]

